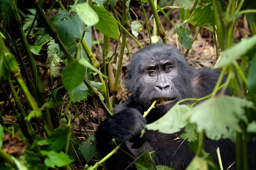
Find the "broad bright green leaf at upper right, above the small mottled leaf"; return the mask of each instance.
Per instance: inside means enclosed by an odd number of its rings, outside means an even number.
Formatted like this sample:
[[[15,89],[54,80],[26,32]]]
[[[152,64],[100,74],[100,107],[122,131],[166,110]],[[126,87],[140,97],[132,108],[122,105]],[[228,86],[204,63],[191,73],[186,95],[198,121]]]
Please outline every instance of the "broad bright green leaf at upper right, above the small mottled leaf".
[[[191,18],[192,19],[189,20],[188,23],[193,23],[196,26],[206,26],[207,24],[214,26],[215,20],[212,4],[208,3],[207,5],[202,5],[199,8],[196,8]]]

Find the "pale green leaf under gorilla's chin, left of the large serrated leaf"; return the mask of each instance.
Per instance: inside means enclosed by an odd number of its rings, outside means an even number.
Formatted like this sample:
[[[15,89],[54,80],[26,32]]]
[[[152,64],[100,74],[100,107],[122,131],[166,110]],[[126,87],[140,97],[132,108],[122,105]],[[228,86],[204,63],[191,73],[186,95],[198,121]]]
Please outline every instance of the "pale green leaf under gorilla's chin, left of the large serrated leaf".
[[[157,121],[145,125],[148,130],[159,130],[161,133],[175,133],[186,126],[190,108],[188,105],[175,105]]]

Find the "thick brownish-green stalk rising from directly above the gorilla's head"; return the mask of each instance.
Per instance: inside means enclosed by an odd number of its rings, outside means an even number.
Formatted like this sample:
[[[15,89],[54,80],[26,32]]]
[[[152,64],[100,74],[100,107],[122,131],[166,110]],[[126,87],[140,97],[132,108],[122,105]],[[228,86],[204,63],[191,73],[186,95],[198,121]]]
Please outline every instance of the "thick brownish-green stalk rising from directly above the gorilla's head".
[[[166,37],[166,33],[165,30],[163,28],[163,25],[160,21],[160,18],[157,14],[157,9],[154,6],[154,2],[153,0],[148,0],[148,3],[151,7],[152,13],[154,15],[154,19],[156,20],[156,24],[157,24],[157,32],[160,34],[161,39],[163,40],[163,43],[167,44],[167,37]]]

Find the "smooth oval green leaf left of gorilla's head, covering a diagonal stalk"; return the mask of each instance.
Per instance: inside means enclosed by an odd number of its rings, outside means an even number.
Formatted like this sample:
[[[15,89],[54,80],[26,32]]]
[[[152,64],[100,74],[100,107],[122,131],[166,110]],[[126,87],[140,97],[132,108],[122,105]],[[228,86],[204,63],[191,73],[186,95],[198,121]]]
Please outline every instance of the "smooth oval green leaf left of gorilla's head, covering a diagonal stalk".
[[[86,68],[79,60],[66,65],[62,71],[62,82],[67,91],[72,91],[75,87],[80,85],[84,79],[85,72]]]

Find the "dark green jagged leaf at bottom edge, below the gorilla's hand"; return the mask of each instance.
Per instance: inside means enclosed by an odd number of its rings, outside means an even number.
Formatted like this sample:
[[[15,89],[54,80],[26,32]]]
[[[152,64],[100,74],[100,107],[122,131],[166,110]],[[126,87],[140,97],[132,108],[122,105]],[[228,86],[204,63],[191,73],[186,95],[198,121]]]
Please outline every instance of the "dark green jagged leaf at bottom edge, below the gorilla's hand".
[[[139,156],[144,152],[145,151],[141,151]],[[150,155],[151,155],[152,160],[154,161],[155,153],[150,152]],[[138,159],[134,164],[135,164],[135,167],[137,168],[137,170],[154,170],[154,166],[153,166],[147,152],[145,152],[143,154],[143,156],[141,156],[140,159]]]

